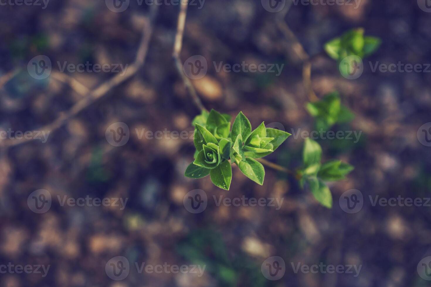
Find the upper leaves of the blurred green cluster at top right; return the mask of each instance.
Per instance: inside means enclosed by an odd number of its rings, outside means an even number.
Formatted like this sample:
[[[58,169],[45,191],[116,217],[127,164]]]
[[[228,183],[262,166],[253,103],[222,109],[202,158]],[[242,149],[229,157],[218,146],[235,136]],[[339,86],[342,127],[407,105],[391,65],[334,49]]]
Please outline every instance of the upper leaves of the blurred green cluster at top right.
[[[328,41],[324,49],[332,59],[340,62],[347,56],[369,56],[377,51],[380,45],[380,38],[364,36],[364,29],[356,28]]]

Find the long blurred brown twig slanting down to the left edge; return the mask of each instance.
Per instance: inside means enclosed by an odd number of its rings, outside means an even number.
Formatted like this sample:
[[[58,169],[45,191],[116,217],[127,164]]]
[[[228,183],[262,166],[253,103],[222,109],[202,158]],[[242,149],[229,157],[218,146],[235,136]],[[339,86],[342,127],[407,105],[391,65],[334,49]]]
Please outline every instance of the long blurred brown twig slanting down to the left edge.
[[[153,24],[153,21],[156,17],[157,8],[158,8],[157,5],[152,6],[151,11],[150,11],[150,16],[144,22],[141,43],[140,43],[140,46],[137,50],[136,59],[131,65],[129,65],[129,67],[126,69],[125,73],[123,75],[118,74],[118,75],[112,77],[111,79],[109,79],[109,80],[105,81],[104,83],[102,83],[101,85],[99,85],[96,89],[87,93],[87,96],[85,98],[79,100],[77,103],[75,103],[75,105],[73,105],[69,111],[67,111],[64,114],[62,114],[61,116],[59,116],[52,123],[47,124],[44,127],[41,127],[40,130],[53,132],[53,131],[59,129],[60,127],[62,127],[62,125],[64,123],[66,123],[67,120],[74,117],[79,112],[83,111],[89,105],[96,102],[96,100],[105,96],[109,92],[109,90],[111,90],[112,88],[118,86],[119,84],[123,83],[125,80],[128,80],[130,77],[134,76],[134,74],[136,74],[136,72],[139,71],[140,68],[142,68],[142,66],[145,63],[145,58],[146,58],[147,52],[148,52],[148,46],[150,43],[151,35],[153,33],[153,25],[152,24]],[[75,82],[74,82],[74,85],[76,88],[77,84]],[[82,86],[78,89],[81,90]],[[25,142],[29,142],[31,140],[32,139],[10,140],[8,142],[3,142],[3,145],[5,145],[6,147],[12,147],[12,146],[16,146],[16,145],[21,145],[21,144],[23,144]]]

